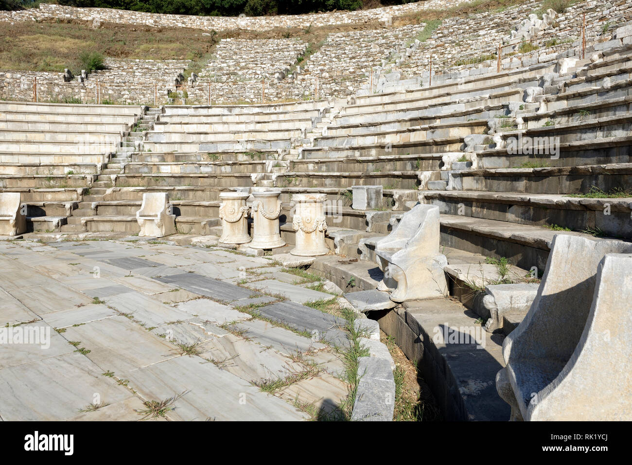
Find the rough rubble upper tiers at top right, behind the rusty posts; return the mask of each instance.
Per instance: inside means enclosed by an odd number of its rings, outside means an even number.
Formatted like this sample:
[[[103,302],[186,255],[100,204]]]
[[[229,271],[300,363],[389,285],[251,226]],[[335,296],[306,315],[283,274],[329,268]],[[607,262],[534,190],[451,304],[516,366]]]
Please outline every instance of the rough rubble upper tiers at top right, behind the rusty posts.
[[[420,76],[423,82],[428,82],[432,56],[434,83],[485,75],[497,69],[499,44],[502,44],[502,70],[544,63],[556,57],[578,56],[583,13],[586,14],[588,57],[593,51],[612,45],[610,42],[617,28],[629,21],[632,15],[626,3],[612,8],[580,3],[568,6],[564,13],[547,11],[547,21],[541,23],[542,16],[532,16],[541,6],[540,2],[534,1],[467,18],[446,18],[432,37],[411,50],[396,69],[402,78]],[[507,35],[510,30],[511,34]],[[523,44],[529,45],[526,51],[521,48]],[[380,84],[385,84],[385,87],[399,85],[398,82]]]

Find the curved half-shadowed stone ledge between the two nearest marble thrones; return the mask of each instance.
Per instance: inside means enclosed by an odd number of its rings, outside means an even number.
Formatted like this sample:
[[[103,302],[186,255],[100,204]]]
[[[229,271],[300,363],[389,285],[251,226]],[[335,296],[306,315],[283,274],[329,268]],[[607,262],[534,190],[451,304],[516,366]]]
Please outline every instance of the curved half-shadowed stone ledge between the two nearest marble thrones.
[[[495,385],[496,373],[504,366],[504,336],[487,334],[473,311],[438,298],[375,313],[380,329],[394,337],[418,367],[444,420],[505,421],[509,417],[509,405]]]

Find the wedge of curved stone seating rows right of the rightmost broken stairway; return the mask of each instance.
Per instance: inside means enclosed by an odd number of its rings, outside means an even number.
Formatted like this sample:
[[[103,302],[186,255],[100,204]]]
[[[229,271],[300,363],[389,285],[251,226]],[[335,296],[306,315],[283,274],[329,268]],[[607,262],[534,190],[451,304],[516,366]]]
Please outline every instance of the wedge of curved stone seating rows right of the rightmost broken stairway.
[[[614,59],[619,56],[617,52]],[[536,266],[542,270],[555,229],[572,229],[568,234],[580,236],[576,231],[632,237],[628,224],[632,196],[581,196],[594,188],[605,192],[632,188],[627,69],[609,71],[617,86],[568,91],[585,82],[581,75],[604,72],[599,71],[599,64],[608,68],[609,59],[580,69],[580,77],[561,80],[561,91],[542,95],[538,107],[514,107],[516,118],[506,119],[508,131],[496,126],[498,132],[490,136],[494,142],[473,144],[475,166],[456,170],[453,166],[453,171],[441,173],[447,190],[433,190],[435,184],[428,183],[420,200],[441,208],[446,246],[508,257],[526,269]],[[546,137],[540,146],[544,153],[509,150],[511,138],[518,140],[519,136]],[[559,157],[554,152],[557,147]]]

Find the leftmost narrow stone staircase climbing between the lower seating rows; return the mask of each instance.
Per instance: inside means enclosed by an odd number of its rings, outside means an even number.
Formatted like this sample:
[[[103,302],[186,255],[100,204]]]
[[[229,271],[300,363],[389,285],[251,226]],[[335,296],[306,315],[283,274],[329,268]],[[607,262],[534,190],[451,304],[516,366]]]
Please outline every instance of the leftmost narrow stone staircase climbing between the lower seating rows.
[[[90,186],[88,193],[84,193],[78,208],[73,210],[72,215],[66,219],[66,224],[60,227],[62,233],[78,233],[85,231],[85,224],[82,218],[97,215],[97,204],[104,200],[107,190],[114,185],[114,179],[123,172],[125,163],[130,160],[131,152],[142,147],[143,136],[146,131],[154,127],[157,121],[160,108],[149,108],[142,118],[128,131],[121,140],[121,146],[112,155],[109,162],[104,165],[102,171],[97,176],[96,181]]]

